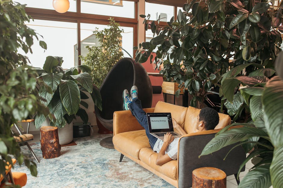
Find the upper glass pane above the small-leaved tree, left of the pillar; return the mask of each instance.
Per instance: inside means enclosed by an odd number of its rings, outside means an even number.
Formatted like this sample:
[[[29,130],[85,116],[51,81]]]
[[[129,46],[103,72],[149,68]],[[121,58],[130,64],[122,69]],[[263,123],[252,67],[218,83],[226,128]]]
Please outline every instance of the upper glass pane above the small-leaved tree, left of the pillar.
[[[125,18],[134,18],[135,17],[135,2],[132,1],[123,1],[120,6],[118,5],[119,1],[114,0],[106,0],[107,4],[103,3],[103,1],[81,1],[81,12],[89,13],[89,14],[99,14],[106,16],[117,16],[117,17],[125,17]],[[111,4],[110,4],[110,2]],[[117,4],[114,4],[117,2]]]

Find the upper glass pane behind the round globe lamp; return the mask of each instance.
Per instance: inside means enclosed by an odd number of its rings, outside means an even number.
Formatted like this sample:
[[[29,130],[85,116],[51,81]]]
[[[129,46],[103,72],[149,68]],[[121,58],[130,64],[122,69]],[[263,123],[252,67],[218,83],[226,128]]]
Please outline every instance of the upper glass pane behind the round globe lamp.
[[[26,4],[26,7],[33,8],[44,8],[54,10],[52,5],[52,0],[15,0],[14,2],[18,2],[20,4]],[[68,12],[76,12],[76,0],[69,0],[70,8]]]

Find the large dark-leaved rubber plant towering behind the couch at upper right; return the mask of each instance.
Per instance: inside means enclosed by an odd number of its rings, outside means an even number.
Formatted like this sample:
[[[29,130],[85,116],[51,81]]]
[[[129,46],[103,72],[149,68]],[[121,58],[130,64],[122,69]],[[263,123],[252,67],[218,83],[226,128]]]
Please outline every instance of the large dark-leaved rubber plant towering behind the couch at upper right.
[[[166,26],[140,16],[154,37],[134,47],[135,60],[150,59],[157,69],[163,64],[160,73],[188,88],[191,106],[202,107],[207,92],[232,67],[253,63],[247,73],[273,67],[281,51],[275,44],[282,43],[282,13],[265,1],[189,1]]]

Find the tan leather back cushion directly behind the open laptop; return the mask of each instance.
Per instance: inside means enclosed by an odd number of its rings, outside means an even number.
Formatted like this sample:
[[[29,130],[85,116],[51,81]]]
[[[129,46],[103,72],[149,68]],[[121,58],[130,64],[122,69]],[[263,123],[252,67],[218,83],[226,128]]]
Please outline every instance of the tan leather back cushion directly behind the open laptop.
[[[174,105],[174,104],[164,103],[162,101],[159,101],[154,108],[154,113],[170,112],[172,118],[174,118],[177,121],[177,123],[182,128],[184,128],[187,109],[188,109],[187,107],[177,106],[177,105]],[[178,132],[178,131],[176,131],[176,132]]]

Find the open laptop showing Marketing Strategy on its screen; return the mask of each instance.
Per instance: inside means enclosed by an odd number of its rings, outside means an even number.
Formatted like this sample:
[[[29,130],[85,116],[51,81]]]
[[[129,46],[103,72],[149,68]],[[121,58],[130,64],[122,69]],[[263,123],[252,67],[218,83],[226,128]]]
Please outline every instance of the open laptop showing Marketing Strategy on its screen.
[[[149,133],[163,141],[166,133],[171,133],[174,138],[182,135],[174,132],[171,113],[146,113],[148,118]]]

